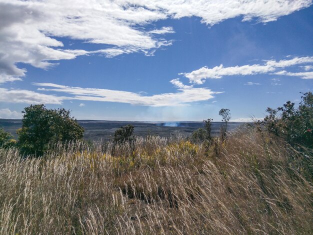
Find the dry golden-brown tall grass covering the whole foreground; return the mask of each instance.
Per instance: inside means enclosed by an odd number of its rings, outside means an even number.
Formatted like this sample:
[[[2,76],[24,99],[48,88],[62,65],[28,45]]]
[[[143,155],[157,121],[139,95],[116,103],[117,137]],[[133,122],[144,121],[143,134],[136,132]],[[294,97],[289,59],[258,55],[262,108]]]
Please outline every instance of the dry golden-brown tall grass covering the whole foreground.
[[[0,150],[0,234],[311,234],[311,153],[254,129],[193,144]],[[112,155],[112,152],[114,155]]]

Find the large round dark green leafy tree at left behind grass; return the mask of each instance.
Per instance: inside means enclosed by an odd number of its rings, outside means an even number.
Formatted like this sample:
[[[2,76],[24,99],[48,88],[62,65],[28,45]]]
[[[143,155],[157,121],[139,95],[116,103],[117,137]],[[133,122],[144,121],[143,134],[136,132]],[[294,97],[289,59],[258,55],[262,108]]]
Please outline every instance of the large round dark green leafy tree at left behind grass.
[[[81,139],[84,129],[70,111],[30,105],[22,111],[22,127],[17,130],[19,145],[26,154],[42,155],[48,144]]]

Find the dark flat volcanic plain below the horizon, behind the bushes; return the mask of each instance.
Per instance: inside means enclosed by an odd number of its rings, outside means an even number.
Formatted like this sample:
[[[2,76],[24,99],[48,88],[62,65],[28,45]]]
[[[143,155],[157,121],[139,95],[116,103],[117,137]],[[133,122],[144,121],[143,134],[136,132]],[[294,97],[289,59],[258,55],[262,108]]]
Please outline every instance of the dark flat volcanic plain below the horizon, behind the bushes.
[[[148,121],[105,121],[105,120],[78,120],[78,123],[85,129],[84,139],[88,140],[109,140],[114,131],[127,124],[134,126],[134,134],[137,136],[159,135],[168,137],[173,134],[180,133],[189,136],[192,131],[203,127],[201,121],[169,121],[169,122],[148,122]],[[212,135],[219,133],[222,122],[212,122]],[[234,130],[244,123],[229,122],[228,130]],[[17,139],[16,129],[21,127],[20,119],[1,119],[0,127],[10,132]]]

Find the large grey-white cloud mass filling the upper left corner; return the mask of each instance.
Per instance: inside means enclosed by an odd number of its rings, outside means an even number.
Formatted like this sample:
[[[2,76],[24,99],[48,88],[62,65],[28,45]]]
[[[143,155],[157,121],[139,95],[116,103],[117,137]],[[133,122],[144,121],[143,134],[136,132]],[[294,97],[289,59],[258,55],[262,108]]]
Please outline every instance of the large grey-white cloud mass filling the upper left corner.
[[[16,80],[26,70],[17,62],[39,68],[53,66],[51,60],[103,53],[107,57],[168,45],[136,29],[136,24],[166,18],[160,11],[127,7],[113,1],[0,0],[0,82]],[[69,37],[110,45],[98,51],[61,49],[53,37]]]

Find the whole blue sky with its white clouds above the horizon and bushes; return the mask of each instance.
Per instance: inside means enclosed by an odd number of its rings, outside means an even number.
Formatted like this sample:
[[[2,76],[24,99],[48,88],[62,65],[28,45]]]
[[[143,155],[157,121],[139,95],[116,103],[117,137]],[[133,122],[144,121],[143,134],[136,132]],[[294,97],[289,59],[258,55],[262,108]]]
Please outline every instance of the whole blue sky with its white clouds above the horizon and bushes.
[[[181,2],[0,0],[0,117],[243,121],[313,88],[311,0]]]

